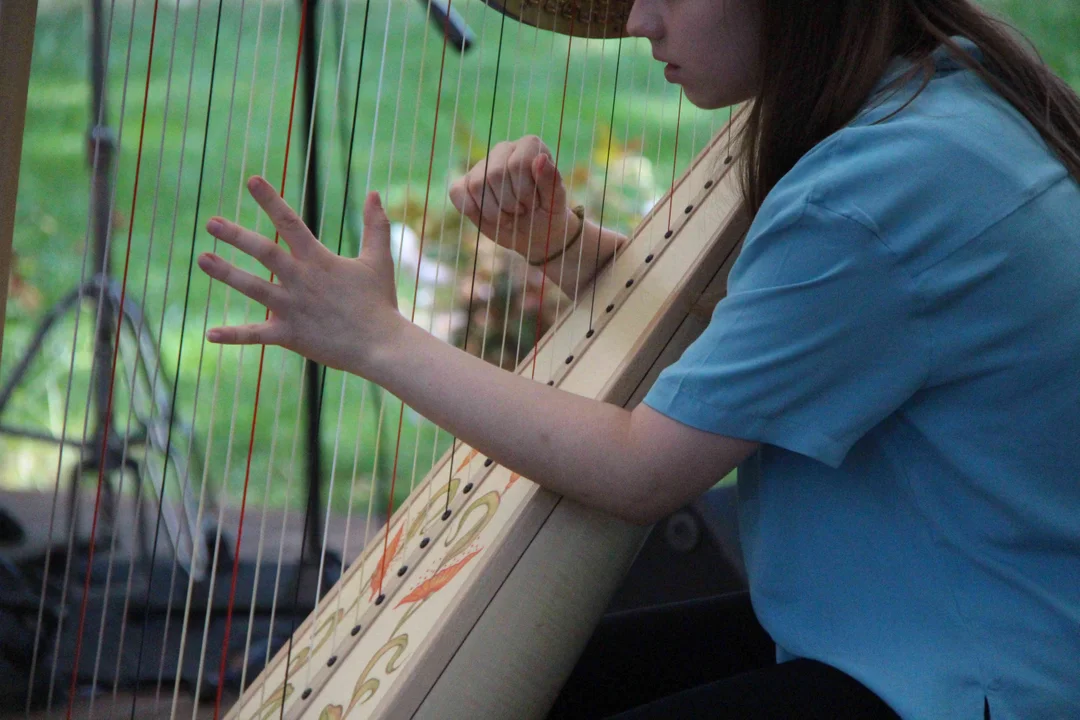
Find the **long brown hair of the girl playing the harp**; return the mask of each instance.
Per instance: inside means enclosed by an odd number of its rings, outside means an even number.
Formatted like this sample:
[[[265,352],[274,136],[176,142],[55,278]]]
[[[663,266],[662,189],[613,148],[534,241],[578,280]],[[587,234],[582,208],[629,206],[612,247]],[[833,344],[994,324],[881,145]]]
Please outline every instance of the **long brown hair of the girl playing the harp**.
[[[927,83],[930,55],[943,44],[1011,103],[1080,180],[1080,97],[1013,28],[970,0],[760,2],[764,80],[740,147],[753,214],[804,154],[851,122],[893,57],[913,63],[900,82],[921,73]],[[984,63],[954,36],[974,42]]]

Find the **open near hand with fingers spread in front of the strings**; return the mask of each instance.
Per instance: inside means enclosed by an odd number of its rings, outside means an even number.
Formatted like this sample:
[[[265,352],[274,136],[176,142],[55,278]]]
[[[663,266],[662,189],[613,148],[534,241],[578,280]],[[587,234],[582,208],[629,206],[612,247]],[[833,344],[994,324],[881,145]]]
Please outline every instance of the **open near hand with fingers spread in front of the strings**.
[[[264,323],[216,327],[211,342],[281,345],[328,367],[364,375],[373,353],[391,342],[407,321],[397,311],[390,222],[379,195],[364,203],[364,240],[360,257],[335,255],[315,239],[278,192],[260,177],[247,189],[292,252],[224,218],[206,230],[251,255],[276,275],[280,284],[240,270],[213,253],[199,256],[211,277],[264,304]]]

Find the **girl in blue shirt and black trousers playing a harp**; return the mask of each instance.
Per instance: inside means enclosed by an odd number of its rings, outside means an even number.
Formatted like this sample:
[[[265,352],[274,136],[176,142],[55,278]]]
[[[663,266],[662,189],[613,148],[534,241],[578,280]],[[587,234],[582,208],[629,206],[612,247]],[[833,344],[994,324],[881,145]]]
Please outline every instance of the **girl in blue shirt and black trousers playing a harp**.
[[[368,378],[497,462],[631,522],[739,467],[750,596],[780,662],[690,675],[729,652],[694,607],[681,617],[702,623],[704,655],[672,655],[681,677],[566,702],[566,715],[1075,712],[1080,99],[969,0],[565,4],[554,19],[500,10],[647,38],[696,105],[748,104],[735,154],[754,222],[728,297],[642,405],[531,382],[408,323],[376,193],[360,257],[342,258],[253,179],[289,249],[221,218],[208,230],[280,282],[199,262],[272,316],[210,339]],[[449,193],[531,262],[583,244],[595,260],[553,276],[565,288],[623,242],[567,207],[535,137],[496,147]],[[536,241],[549,226],[561,247]],[[651,667],[667,662],[645,643],[611,652],[623,667],[646,648]]]

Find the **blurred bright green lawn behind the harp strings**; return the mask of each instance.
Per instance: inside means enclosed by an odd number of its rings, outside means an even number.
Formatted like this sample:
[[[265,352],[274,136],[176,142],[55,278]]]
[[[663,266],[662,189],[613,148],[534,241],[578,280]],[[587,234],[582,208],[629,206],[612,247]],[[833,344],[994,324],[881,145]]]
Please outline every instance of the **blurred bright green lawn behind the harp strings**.
[[[10,376],[49,307],[89,273],[83,260],[89,242],[87,4],[43,0],[39,12],[16,212],[16,277],[8,303],[0,381]],[[325,209],[319,234],[327,245],[338,247],[340,243],[343,253],[356,252],[355,213],[367,189],[383,191],[388,204],[404,219],[415,220],[417,208],[427,200],[429,223],[457,227],[446,202],[446,188],[485,154],[489,142],[536,133],[553,149],[558,145],[567,40],[503,24],[502,16],[480,0],[456,0],[454,6],[468,21],[476,42],[465,55],[450,51],[445,57],[427,195],[442,37],[426,21],[422,5],[411,0],[372,0],[369,4],[323,0],[319,4],[323,12],[310,22],[316,24],[323,38],[318,104],[320,173],[326,185],[320,188]],[[1080,3],[987,0],[986,4],[1013,21],[1050,66],[1080,89]],[[213,214],[266,231],[268,223],[241,193],[242,181],[254,173],[265,174],[275,185],[282,180],[298,3],[225,2],[216,64],[217,3],[161,3],[138,202],[133,214],[152,5],[140,1],[133,13],[131,2],[116,2],[111,25],[108,124],[120,140],[113,272],[119,279],[130,234],[129,296],[143,305],[149,327],[160,340],[165,371],[179,383],[178,416],[193,426],[200,453],[206,453],[205,477],[211,491],[225,487],[227,502],[235,503],[245,474],[259,353],[221,350],[204,344],[202,337],[207,324],[244,322],[256,311],[237,296],[230,296],[222,311],[221,288],[211,289],[198,271],[189,276],[188,263],[192,252],[211,249],[212,239],[201,228]],[[347,204],[343,188],[349,127],[362,51]],[[656,175],[650,182],[662,188],[670,182],[673,168],[686,167],[727,119],[726,112],[703,112],[689,104],[679,110],[678,92],[663,81],[648,43],[578,40],[570,45],[569,57],[559,166],[576,178],[576,198],[588,194],[585,184],[603,179],[608,137],[615,157],[634,152],[647,158]],[[306,200],[301,199],[299,181],[301,144],[299,131],[294,128],[285,191],[294,207]],[[619,221],[609,218],[607,223]],[[225,255],[229,256],[227,248]],[[402,272],[399,282],[403,310],[408,312],[415,289],[411,273]],[[437,318],[429,313],[423,320]],[[66,415],[68,433],[82,432],[91,313],[84,312],[80,323],[76,341],[70,318],[50,337],[42,357],[30,368],[0,421],[59,434]],[[78,351],[75,354],[72,345]],[[68,399],[65,392],[72,357],[76,382]],[[248,502],[272,506],[287,502],[295,508],[301,502],[305,450],[298,402],[300,363],[271,349],[265,367]],[[322,436],[326,477],[333,471],[335,479],[330,499],[334,511],[340,513],[346,512],[351,491],[353,512],[364,507],[373,492],[386,492],[397,445],[400,408],[390,397],[380,404],[381,394],[355,378],[342,391],[345,383],[341,373],[328,373]],[[123,392],[120,399],[124,399]],[[121,412],[118,417],[124,422],[126,416]],[[381,434],[377,433],[379,427]],[[230,437],[234,439],[228,440]],[[407,493],[411,481],[422,478],[448,440],[444,433],[436,433],[406,411],[397,462],[400,497]],[[67,452],[65,466],[75,461],[75,453]],[[56,467],[54,446],[0,436],[0,488],[51,491]],[[373,478],[378,486],[374,491]],[[193,481],[198,485],[201,478]],[[265,497],[264,487],[269,488]]]

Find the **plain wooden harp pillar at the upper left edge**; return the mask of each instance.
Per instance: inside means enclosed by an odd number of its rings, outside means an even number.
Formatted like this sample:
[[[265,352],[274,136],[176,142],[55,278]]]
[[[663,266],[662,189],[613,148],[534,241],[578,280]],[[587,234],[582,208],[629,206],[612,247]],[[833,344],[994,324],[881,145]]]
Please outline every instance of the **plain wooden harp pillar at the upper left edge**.
[[[33,24],[38,0],[0,0],[0,338],[3,338],[15,232],[18,164],[26,124],[26,89],[30,81]],[[0,357],[3,344],[0,342]]]

